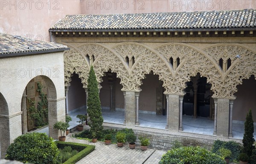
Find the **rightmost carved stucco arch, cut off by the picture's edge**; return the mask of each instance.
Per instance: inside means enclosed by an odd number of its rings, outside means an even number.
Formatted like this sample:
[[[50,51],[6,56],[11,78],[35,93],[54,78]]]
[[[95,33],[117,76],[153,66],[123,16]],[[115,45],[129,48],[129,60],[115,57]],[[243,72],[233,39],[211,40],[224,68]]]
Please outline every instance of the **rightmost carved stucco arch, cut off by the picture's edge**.
[[[206,48],[204,51],[209,54],[217,54],[218,58],[224,53],[227,59],[232,59],[230,68],[222,74],[224,80],[219,88],[220,97],[236,99],[234,93],[237,92],[237,85],[242,84],[242,79],[249,79],[251,75],[254,75],[256,79],[256,52],[249,47],[241,44],[218,44]],[[236,55],[240,55],[241,58],[235,58]]]

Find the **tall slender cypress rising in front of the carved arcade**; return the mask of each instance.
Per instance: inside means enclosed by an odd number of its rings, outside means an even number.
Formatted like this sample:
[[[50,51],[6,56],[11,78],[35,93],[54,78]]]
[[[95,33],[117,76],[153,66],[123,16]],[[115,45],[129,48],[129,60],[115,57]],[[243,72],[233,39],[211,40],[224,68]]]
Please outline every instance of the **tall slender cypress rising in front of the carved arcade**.
[[[103,130],[103,118],[102,118],[102,110],[101,104],[99,100],[99,89],[98,82],[96,80],[96,75],[93,70],[93,66],[90,68],[89,77],[88,77],[88,99],[87,99],[87,113],[90,117],[90,122],[88,123],[90,126],[90,130],[93,134],[96,134],[97,137],[99,132]]]

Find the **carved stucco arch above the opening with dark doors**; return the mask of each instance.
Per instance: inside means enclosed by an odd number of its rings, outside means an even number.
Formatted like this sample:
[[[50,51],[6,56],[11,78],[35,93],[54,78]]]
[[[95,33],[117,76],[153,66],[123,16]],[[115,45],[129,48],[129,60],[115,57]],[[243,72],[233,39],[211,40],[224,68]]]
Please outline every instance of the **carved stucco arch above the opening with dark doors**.
[[[221,70],[217,63],[204,51],[185,43],[165,44],[155,48],[155,50],[166,59],[170,57],[180,58],[180,65],[177,69],[172,70],[173,77],[169,84],[170,93],[183,95],[186,82],[191,80],[191,76],[200,73],[201,77],[206,77],[207,82],[212,84],[213,97],[216,96],[218,93],[217,86],[221,82]]]

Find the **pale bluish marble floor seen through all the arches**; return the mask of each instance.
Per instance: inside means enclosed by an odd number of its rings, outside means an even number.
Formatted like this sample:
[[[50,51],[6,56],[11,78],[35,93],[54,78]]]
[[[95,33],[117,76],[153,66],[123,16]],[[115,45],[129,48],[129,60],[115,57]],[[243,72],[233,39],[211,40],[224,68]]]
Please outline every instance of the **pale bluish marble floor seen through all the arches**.
[[[69,115],[72,118],[70,122],[69,129],[76,127],[79,123],[76,116],[78,114],[85,114],[86,109],[78,110],[74,113],[70,113]],[[102,110],[102,117],[104,122],[112,123],[112,124],[124,124],[125,121],[125,113],[124,111],[110,111],[110,110]],[[166,116],[155,115],[155,114],[147,114],[147,113],[139,113],[139,127],[148,127],[155,129],[165,129],[166,128]],[[183,132],[187,133],[196,133],[196,134],[204,134],[204,135],[212,135],[214,130],[214,120],[210,120],[204,117],[193,118],[192,116],[183,115],[182,119]],[[233,138],[234,139],[243,139],[244,136],[244,124],[233,123]],[[38,132],[49,133],[48,127],[43,128],[41,130],[37,130]],[[254,126],[254,138],[256,138],[256,126]]]

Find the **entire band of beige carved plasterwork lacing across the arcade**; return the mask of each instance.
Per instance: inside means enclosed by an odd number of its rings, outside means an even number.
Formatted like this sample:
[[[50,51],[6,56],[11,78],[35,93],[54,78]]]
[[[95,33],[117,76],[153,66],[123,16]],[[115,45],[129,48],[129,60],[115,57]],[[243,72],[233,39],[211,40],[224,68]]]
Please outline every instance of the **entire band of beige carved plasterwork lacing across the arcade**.
[[[105,72],[111,70],[121,79],[122,90],[140,91],[142,79],[146,74],[153,71],[163,81],[166,94],[183,95],[186,82],[191,76],[200,73],[207,77],[207,82],[212,84],[212,97],[233,99],[237,91],[236,86],[241,84],[242,79],[256,76],[256,54],[246,48],[239,46],[214,46],[198,51],[186,45],[163,45],[151,50],[140,44],[122,44],[108,48],[98,44],[86,44],[79,46],[78,50],[73,48],[65,52],[65,85],[70,85],[71,74],[75,71],[82,79],[86,87],[89,66],[85,55],[95,58],[93,66],[98,82],[102,82]],[[234,56],[241,54],[240,59]],[[223,55],[223,56],[222,56]],[[134,57],[135,62],[131,68],[125,64],[125,57]],[[180,65],[172,69],[167,60],[179,57]],[[223,72],[218,66],[218,60],[232,60],[230,68]]]

